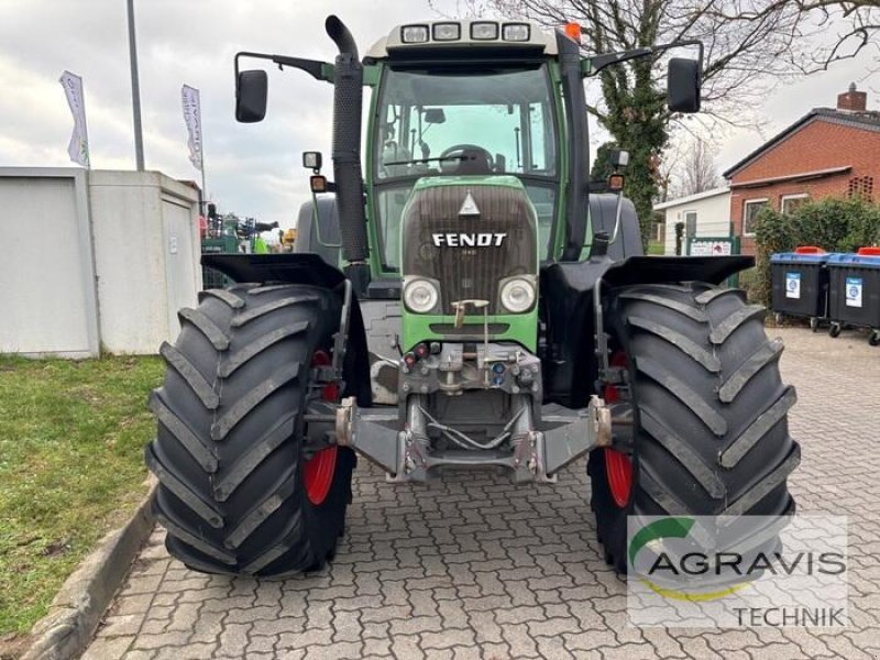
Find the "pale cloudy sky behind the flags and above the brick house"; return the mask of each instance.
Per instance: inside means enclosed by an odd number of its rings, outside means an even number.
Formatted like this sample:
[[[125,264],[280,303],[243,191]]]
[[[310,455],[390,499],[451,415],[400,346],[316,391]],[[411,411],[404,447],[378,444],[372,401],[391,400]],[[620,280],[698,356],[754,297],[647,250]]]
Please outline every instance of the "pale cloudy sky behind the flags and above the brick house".
[[[454,0],[433,8],[454,11]],[[233,55],[280,53],[332,62],[323,20],[337,13],[363,54],[397,24],[439,18],[428,0],[135,0],[144,154],[147,169],[199,180],[188,160],[180,87],[201,94],[208,198],[221,212],[295,223],[308,197],[300,154],[324,153],[330,168],[332,87],[304,73],[272,69],[266,120],[233,117]],[[133,169],[125,0],[0,0],[0,166],[74,166],[73,119],[58,82],[84,79],[91,166]],[[873,55],[871,55],[873,57]],[[716,132],[724,170],[815,106],[834,106],[850,81],[880,108],[880,80],[865,80],[868,56],[780,86],[757,114],[760,129]],[[873,86],[875,89],[870,89]],[[592,127],[591,142],[604,136]]]

